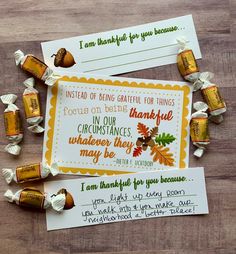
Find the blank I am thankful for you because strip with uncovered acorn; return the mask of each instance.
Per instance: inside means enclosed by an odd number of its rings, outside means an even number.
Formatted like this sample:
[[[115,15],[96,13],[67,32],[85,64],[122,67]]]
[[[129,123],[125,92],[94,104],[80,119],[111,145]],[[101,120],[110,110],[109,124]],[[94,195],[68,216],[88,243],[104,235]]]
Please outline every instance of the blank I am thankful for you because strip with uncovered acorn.
[[[201,58],[192,15],[41,45],[46,64],[54,70],[114,75],[176,63],[180,36]]]

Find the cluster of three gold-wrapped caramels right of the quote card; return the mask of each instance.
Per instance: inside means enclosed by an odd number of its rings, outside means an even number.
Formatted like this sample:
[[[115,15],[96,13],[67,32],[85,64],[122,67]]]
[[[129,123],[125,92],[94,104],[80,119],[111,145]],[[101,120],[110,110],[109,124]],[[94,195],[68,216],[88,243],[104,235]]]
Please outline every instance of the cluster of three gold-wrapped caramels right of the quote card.
[[[201,157],[204,153],[206,145],[209,144],[208,132],[208,111],[212,122],[217,124],[223,121],[223,113],[226,112],[226,104],[220,95],[219,88],[210,80],[214,74],[211,72],[199,72],[193,51],[187,47],[185,38],[178,38],[179,52],[177,55],[177,66],[180,74],[184,79],[193,83],[193,91],[201,90],[202,96],[206,102],[198,102],[194,104],[197,110],[192,115],[190,122],[190,135],[192,142],[198,149],[194,155]]]

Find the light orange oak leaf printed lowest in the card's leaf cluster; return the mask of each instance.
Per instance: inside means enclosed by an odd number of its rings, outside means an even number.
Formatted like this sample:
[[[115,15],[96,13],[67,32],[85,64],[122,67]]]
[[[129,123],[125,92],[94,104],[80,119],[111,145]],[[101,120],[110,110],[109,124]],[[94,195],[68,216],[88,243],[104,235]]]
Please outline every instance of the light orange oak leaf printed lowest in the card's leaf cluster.
[[[173,153],[169,153],[169,148],[155,145],[152,147],[151,155],[153,155],[153,161],[158,161],[160,164],[166,166],[174,166]]]

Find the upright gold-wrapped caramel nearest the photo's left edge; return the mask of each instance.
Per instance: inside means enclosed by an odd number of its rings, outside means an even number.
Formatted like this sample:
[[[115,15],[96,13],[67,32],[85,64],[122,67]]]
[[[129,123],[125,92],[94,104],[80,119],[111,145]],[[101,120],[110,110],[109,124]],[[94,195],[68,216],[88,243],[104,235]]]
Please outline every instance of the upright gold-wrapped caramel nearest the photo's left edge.
[[[20,143],[23,138],[23,129],[21,125],[20,110],[14,104],[17,96],[15,94],[6,94],[2,95],[0,98],[2,103],[7,105],[3,116],[6,137],[10,143],[5,147],[5,151],[13,155],[19,155],[21,148],[18,143]]]

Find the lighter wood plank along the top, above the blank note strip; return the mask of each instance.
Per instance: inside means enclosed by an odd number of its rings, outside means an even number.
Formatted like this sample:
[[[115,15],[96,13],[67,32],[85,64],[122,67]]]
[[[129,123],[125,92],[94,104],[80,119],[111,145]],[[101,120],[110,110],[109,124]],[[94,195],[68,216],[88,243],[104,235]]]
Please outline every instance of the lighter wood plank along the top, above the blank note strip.
[[[34,1],[0,4],[2,42],[55,40],[193,14],[199,35],[230,33],[228,0]],[[10,33],[9,33],[10,29]]]

